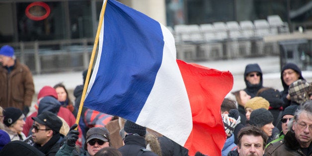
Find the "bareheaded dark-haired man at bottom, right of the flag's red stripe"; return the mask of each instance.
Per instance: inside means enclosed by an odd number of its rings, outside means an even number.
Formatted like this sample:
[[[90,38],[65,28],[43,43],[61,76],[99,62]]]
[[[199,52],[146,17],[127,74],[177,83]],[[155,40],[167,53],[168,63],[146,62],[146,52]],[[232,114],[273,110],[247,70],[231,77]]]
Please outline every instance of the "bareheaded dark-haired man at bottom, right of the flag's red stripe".
[[[246,126],[238,133],[238,148],[228,156],[262,156],[267,135],[256,126]]]

